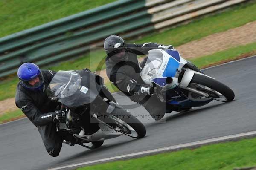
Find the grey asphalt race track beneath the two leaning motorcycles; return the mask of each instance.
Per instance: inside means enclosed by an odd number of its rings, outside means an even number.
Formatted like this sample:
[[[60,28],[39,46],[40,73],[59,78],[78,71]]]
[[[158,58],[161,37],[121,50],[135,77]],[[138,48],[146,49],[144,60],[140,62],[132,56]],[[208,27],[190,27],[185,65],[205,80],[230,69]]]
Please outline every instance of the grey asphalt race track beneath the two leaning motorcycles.
[[[183,114],[172,112],[159,123],[148,119],[149,114],[137,105],[130,111],[144,117],[139,119],[147,129],[145,138],[122,135],[106,140],[96,150],[63,145],[60,156],[55,158],[48,155],[38,130],[27,118],[3,124],[0,125],[0,170],[45,170],[256,130],[256,56],[205,69],[204,73],[233,89],[235,100],[212,101]],[[119,93],[115,98],[119,104],[132,104]]]

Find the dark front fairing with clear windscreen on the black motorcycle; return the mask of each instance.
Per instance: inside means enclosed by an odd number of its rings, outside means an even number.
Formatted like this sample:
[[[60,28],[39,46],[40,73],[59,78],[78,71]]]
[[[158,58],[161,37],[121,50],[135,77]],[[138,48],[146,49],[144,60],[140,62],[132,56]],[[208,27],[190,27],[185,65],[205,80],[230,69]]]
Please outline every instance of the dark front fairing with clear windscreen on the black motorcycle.
[[[79,83],[77,83],[77,81],[72,82],[70,81],[71,78],[68,78],[75,74],[79,74],[79,78],[81,79]],[[63,87],[61,86],[61,84],[54,86],[54,84],[59,82],[63,84],[62,85]],[[65,88],[64,85],[67,87]],[[52,87],[62,88],[63,92],[65,92],[70,89],[70,86],[78,86],[78,88],[76,89],[76,91],[74,90],[69,93],[66,92],[68,95],[65,95],[65,96],[57,94],[52,88]],[[85,72],[82,70],[59,71],[52,78],[52,81],[47,87],[47,95],[49,98],[57,98],[59,102],[61,102],[67,107],[78,107],[84,104],[92,103],[96,99],[96,97],[99,95],[99,92],[101,91],[102,86],[103,86],[103,78],[91,72]]]

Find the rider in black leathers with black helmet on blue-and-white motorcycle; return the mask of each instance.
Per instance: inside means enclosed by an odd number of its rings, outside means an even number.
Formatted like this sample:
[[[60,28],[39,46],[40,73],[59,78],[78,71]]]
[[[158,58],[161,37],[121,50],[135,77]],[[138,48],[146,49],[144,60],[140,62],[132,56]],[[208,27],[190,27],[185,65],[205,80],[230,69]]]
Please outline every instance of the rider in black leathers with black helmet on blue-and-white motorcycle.
[[[152,87],[141,79],[140,72],[146,60],[139,64],[137,55],[146,55],[151,49],[172,48],[172,45],[158,43],[126,44],[116,35],[107,37],[104,42],[109,80],[132,101],[143,105],[155,120],[160,120],[166,112],[172,112],[172,108],[161,102],[156,95],[152,95]]]

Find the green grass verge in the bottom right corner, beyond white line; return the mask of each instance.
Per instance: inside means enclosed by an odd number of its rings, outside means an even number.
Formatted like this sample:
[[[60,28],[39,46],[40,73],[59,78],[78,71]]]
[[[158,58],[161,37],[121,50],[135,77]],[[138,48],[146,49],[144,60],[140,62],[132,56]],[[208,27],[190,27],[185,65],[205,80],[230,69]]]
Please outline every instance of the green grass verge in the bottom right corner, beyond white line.
[[[256,138],[211,144],[142,158],[115,161],[77,170],[233,170],[256,165]]]

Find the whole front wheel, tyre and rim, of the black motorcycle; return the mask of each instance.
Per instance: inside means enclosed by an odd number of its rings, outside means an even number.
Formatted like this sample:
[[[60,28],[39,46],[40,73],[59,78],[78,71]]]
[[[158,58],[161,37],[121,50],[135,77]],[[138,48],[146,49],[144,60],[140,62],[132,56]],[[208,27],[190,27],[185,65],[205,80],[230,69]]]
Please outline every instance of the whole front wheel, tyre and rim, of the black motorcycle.
[[[110,116],[117,131],[132,138],[143,138],[146,135],[144,125],[130,112],[116,107]]]

